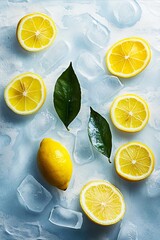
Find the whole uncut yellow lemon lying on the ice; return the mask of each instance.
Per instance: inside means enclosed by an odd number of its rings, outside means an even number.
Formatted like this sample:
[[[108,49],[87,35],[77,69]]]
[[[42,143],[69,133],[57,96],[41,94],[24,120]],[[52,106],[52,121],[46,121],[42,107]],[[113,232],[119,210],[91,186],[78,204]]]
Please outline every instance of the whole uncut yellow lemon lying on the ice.
[[[40,143],[37,160],[46,181],[61,190],[66,190],[73,170],[67,149],[51,138],[44,138]]]

